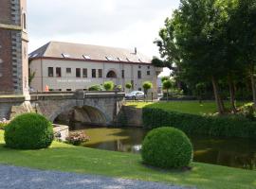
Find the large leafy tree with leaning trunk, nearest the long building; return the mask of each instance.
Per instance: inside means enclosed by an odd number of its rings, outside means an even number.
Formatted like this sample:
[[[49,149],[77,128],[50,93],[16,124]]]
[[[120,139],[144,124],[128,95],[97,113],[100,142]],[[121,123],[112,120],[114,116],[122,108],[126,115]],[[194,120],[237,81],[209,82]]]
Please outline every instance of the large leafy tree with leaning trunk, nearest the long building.
[[[210,81],[219,113],[225,112],[219,81],[227,75],[226,27],[235,0],[182,0],[157,42],[165,60],[174,62],[178,77]]]

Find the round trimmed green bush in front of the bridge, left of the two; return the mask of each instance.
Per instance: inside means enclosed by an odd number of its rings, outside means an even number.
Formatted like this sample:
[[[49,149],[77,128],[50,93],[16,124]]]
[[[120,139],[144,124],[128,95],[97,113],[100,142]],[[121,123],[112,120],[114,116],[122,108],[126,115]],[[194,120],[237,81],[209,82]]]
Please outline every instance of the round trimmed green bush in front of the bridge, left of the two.
[[[40,149],[51,145],[53,128],[42,115],[25,113],[14,118],[5,130],[6,146],[16,149]]]

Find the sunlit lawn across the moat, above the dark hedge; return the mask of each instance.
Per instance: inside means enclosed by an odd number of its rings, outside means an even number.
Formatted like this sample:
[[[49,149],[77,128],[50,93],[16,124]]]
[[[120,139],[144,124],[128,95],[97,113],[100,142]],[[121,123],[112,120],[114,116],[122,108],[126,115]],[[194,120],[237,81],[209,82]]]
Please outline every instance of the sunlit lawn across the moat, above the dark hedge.
[[[245,102],[238,102],[237,105],[241,106]],[[143,108],[145,106],[163,109],[174,112],[184,112],[191,114],[204,114],[217,112],[216,104],[214,101],[205,101],[200,104],[198,101],[172,101],[172,102],[127,102],[126,106],[133,106],[136,108]],[[226,108],[229,109],[229,102],[225,102]]]

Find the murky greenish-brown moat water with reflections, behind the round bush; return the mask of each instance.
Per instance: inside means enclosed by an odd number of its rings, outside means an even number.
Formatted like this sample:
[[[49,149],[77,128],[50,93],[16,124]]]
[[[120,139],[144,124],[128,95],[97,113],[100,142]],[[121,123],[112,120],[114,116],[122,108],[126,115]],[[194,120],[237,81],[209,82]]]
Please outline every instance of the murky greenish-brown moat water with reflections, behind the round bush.
[[[80,128],[81,130],[81,128]],[[91,141],[83,146],[113,151],[139,153],[147,130],[137,128],[83,127]],[[190,136],[194,148],[194,162],[256,169],[256,142],[247,139],[227,139]]]

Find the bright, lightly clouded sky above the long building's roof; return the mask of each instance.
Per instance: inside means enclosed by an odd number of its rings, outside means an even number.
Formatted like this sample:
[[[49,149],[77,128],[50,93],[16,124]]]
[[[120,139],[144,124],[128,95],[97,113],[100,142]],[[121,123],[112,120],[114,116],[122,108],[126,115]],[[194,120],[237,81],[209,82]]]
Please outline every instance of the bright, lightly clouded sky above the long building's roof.
[[[137,47],[148,57],[159,56],[153,42],[178,5],[179,0],[27,0],[28,50],[60,41]]]

